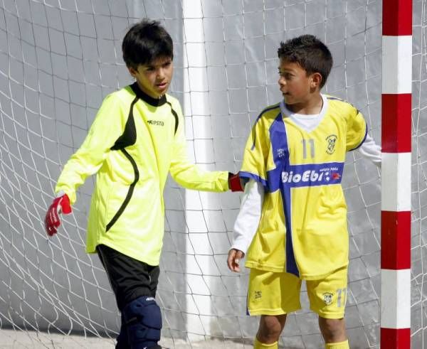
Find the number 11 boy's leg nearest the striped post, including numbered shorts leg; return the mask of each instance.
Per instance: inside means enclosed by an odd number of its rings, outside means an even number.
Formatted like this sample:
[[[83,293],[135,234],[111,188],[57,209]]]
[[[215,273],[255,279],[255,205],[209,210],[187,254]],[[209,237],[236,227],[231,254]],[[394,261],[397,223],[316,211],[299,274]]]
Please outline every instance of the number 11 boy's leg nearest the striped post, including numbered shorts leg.
[[[307,281],[310,308],[319,315],[319,327],[327,349],[347,349],[344,308],[347,301],[347,266],[321,280]]]

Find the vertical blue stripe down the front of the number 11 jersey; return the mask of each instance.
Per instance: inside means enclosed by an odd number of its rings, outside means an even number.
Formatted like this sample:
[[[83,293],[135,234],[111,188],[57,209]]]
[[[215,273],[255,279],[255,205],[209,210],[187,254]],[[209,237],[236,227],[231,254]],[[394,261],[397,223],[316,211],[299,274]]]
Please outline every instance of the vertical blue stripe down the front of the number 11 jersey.
[[[275,169],[268,171],[268,186],[271,192],[275,191],[276,186],[278,186],[282,195],[286,226],[286,272],[300,277],[300,271],[298,270],[297,262],[295,261],[295,254],[292,245],[290,186],[280,185],[281,173],[289,167],[288,137],[286,136],[285,123],[283,122],[281,113],[278,114],[275,121],[270,126],[270,142],[273,148]]]

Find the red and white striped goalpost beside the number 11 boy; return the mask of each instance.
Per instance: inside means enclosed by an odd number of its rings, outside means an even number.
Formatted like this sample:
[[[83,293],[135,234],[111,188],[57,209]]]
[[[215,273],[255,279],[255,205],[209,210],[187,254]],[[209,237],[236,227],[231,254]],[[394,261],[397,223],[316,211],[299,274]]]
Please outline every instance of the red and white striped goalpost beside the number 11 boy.
[[[411,348],[412,0],[383,0],[381,348]]]

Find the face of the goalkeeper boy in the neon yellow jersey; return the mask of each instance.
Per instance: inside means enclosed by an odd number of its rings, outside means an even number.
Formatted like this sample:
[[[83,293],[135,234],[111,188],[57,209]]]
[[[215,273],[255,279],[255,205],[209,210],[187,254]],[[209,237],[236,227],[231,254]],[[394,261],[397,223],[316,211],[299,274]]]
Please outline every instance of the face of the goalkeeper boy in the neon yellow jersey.
[[[161,57],[149,64],[138,65],[137,70],[128,67],[130,75],[135,77],[139,88],[149,97],[159,98],[164,95],[172,81],[174,65],[172,58]]]

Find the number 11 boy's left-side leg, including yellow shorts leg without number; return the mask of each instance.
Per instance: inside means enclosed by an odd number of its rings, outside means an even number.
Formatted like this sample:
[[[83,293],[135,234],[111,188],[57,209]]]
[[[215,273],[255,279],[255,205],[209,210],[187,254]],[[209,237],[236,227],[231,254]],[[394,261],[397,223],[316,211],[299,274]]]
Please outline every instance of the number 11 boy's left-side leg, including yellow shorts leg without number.
[[[301,280],[288,273],[251,269],[248,287],[248,315],[260,315],[253,348],[278,348],[286,314],[301,308]]]

